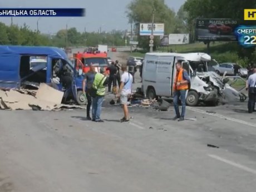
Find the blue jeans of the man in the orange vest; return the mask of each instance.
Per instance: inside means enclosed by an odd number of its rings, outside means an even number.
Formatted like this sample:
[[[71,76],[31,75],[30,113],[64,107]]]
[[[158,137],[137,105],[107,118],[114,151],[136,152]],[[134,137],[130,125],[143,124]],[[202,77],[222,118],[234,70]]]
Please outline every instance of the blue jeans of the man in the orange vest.
[[[179,97],[181,99],[181,115],[180,115],[180,110],[179,110]],[[184,117],[185,116],[185,111],[186,111],[186,90],[176,90],[174,92],[174,99],[173,99],[173,104],[174,104],[174,109],[176,116],[179,117]]]

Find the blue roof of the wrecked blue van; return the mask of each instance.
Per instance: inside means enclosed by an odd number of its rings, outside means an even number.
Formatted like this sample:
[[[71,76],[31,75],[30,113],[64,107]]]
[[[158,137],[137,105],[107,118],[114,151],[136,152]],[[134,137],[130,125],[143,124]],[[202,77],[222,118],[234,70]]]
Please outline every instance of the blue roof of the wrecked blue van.
[[[66,59],[65,51],[57,47],[37,47],[37,46],[0,46],[1,53],[11,54],[29,54],[29,55],[47,55],[51,57]]]

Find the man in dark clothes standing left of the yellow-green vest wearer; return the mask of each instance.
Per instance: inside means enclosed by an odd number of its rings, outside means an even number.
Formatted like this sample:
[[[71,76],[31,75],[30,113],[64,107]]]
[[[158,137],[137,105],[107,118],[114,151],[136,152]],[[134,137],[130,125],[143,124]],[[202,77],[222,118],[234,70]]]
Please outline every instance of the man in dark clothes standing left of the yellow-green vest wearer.
[[[87,106],[86,106],[87,120],[91,120],[90,109],[91,109],[91,104],[92,104],[92,98],[91,98],[88,90],[90,90],[90,88],[92,87],[92,83],[93,83],[95,74],[96,74],[95,66],[91,63],[90,70],[87,73],[85,73],[85,78],[83,79],[83,82],[82,82],[83,95],[85,95],[87,98]]]

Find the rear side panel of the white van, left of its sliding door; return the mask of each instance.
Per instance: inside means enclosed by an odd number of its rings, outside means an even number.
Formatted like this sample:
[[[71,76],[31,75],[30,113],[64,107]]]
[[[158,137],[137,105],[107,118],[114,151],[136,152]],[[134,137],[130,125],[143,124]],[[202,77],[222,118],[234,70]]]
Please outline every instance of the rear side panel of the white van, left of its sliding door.
[[[157,58],[155,55],[145,55],[142,71],[142,87],[143,92],[147,92],[147,87],[156,88],[156,68]]]

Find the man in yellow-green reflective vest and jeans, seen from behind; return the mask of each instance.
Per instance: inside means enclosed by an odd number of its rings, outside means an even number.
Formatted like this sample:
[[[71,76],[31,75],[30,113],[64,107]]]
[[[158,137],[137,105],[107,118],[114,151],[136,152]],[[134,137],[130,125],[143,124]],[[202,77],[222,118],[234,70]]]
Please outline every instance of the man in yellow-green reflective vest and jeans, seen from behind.
[[[104,75],[104,68],[100,68],[100,73],[96,73],[92,88],[97,90],[96,95],[92,97],[92,121],[104,122],[100,119],[101,106],[105,96],[106,85],[108,83],[107,77]]]

